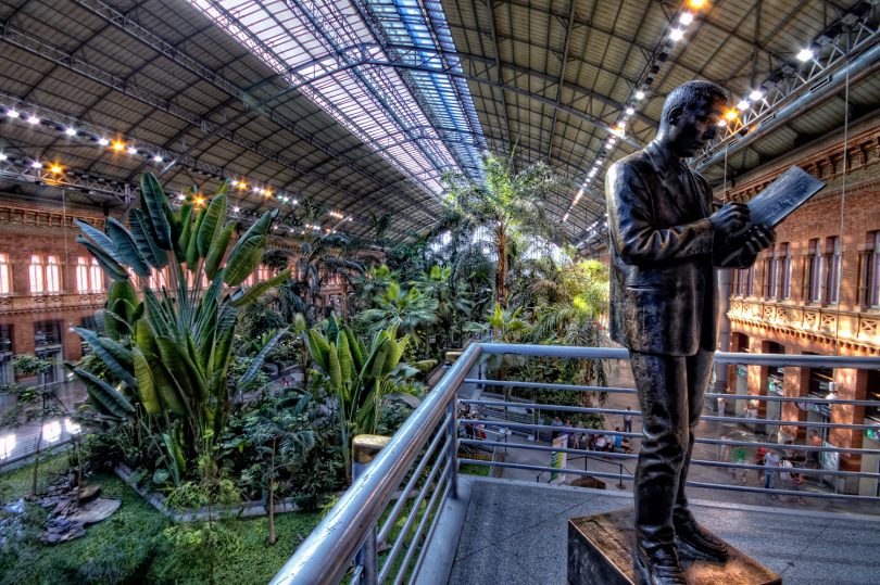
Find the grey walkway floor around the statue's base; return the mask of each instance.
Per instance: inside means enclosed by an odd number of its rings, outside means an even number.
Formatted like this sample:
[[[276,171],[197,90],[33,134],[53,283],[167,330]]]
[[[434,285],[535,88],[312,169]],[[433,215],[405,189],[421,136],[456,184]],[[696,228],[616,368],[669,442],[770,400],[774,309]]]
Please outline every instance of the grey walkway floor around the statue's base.
[[[426,585],[564,585],[568,518],[632,506],[629,494],[461,476],[418,582]],[[783,583],[880,583],[880,519],[693,501],[719,536]]]

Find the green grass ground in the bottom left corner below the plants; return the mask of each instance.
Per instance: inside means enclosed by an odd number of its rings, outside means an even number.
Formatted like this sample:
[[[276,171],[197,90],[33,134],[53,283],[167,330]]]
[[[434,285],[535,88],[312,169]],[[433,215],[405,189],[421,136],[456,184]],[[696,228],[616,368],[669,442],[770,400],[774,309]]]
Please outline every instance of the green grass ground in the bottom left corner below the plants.
[[[40,465],[42,484],[63,473],[66,455]],[[33,467],[0,473],[0,496],[15,500],[30,491]],[[198,552],[172,541],[172,523],[128,488],[115,475],[91,482],[102,495],[122,498],[120,510],[86,529],[86,536],[60,545],[39,542],[46,512],[28,506],[24,536],[0,545],[0,583],[208,583],[209,574]],[[300,541],[317,524],[318,512],[285,513],[276,517],[278,543],[266,546],[266,518],[230,520],[225,526],[235,535],[235,546],[217,555],[217,583],[265,584],[290,557]],[[203,533],[188,532],[190,537]]]

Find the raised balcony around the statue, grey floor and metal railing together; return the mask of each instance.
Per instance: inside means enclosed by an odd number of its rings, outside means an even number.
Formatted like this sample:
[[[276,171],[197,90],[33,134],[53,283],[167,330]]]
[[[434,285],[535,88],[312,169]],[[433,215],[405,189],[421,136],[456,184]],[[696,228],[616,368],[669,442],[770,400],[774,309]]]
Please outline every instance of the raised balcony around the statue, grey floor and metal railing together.
[[[616,374],[611,387],[482,380],[486,355],[601,359]],[[391,442],[354,481],[323,522],[276,575],[278,584],[566,583],[568,518],[632,507],[632,470],[640,440],[636,391],[624,349],[474,344],[458,358]],[[717,363],[751,366],[878,369],[880,358],[716,354]],[[499,386],[577,393],[580,406],[493,395]],[[599,400],[606,393],[605,402]],[[718,394],[707,394],[709,398]],[[727,399],[791,402],[784,396],[724,394]],[[571,400],[568,400],[570,404]],[[714,400],[708,400],[712,404]],[[869,400],[817,399],[830,407],[877,406]],[[462,418],[465,405],[477,418]],[[620,420],[633,406],[632,431],[546,424],[541,414],[592,414]],[[756,434],[783,421],[707,414],[689,475],[694,512],[731,545],[789,583],[878,583],[880,449],[824,443],[779,445]],[[807,430],[870,424],[784,421]],[[600,449],[591,436],[620,437],[621,448]],[[575,446],[568,443],[577,441]],[[553,440],[552,443],[546,440]],[[631,453],[623,448],[632,443]],[[592,445],[592,446],[588,446]],[[752,457],[730,462],[725,449],[764,446],[795,461],[769,488]],[[865,471],[838,469],[842,454],[872,461]],[[815,459],[814,459],[815,456]],[[817,461],[817,466],[810,461]],[[460,474],[483,466],[504,479]],[[473,468],[472,468],[473,469]],[[787,473],[788,474],[788,473]],[[588,478],[594,489],[561,483]],[[801,484],[796,479],[806,481]],[[869,482],[868,495],[837,493],[839,479]],[[783,481],[779,481],[783,480]]]

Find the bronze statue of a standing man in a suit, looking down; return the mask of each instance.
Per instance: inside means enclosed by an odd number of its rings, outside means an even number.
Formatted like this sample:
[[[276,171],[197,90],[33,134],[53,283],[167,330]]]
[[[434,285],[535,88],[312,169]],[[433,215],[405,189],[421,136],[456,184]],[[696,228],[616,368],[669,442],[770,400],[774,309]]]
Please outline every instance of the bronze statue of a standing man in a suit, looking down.
[[[718,208],[689,169],[715,137],[724,89],[689,81],[669,93],[656,138],[608,170],[611,335],[629,348],[642,410],[636,472],[637,573],[683,584],[679,552],[724,562],[724,541],[688,509],[684,483],[716,344],[716,266],[743,268],[775,239],[749,224],[749,207]],[[716,211],[717,209],[717,211]]]

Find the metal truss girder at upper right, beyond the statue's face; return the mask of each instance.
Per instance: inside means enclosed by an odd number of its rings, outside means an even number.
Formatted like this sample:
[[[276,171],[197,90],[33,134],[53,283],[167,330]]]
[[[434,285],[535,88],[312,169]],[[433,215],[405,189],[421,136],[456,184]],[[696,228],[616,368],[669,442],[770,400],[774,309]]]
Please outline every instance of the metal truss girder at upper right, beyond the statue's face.
[[[741,113],[740,120],[727,127],[694,157],[697,170],[705,170],[749,143],[768,128],[789,122],[807,107],[833,96],[852,80],[880,67],[880,28],[865,20],[851,25],[838,22],[833,38],[825,37],[824,54],[804,67],[788,64],[762,85],[764,97]],[[820,37],[821,38],[821,37]]]

